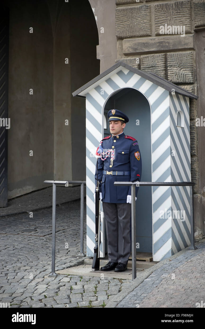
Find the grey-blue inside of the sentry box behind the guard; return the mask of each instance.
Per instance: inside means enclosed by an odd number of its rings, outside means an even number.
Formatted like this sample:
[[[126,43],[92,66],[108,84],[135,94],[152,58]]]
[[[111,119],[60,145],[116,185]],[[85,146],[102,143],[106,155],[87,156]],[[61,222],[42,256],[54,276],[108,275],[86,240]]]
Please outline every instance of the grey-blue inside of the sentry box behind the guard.
[[[104,115],[117,109],[129,117],[124,128],[125,135],[137,139],[142,159],[141,182],[152,181],[151,165],[151,112],[146,97],[138,90],[124,88],[115,92],[105,105]],[[109,126],[104,129],[104,137],[110,135]],[[140,187],[136,201],[136,242],[137,252],[152,253],[152,189]]]

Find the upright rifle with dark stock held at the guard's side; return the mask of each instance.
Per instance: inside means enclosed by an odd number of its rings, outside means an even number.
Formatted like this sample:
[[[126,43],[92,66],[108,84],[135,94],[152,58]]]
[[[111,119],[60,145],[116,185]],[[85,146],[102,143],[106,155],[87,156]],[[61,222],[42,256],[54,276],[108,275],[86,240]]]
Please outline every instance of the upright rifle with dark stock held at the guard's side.
[[[98,160],[98,159],[97,159]],[[98,171],[98,161],[97,161]],[[100,269],[100,192],[99,182],[97,180],[97,186],[95,188],[95,247],[92,260],[92,271],[99,271]]]

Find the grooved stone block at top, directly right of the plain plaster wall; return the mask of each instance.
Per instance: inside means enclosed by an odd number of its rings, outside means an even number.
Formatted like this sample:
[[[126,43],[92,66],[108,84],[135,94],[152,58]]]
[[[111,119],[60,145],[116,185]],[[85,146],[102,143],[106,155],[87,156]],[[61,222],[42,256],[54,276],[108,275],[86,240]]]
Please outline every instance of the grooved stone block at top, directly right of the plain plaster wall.
[[[115,12],[115,23],[118,39],[151,36],[151,7],[118,7]]]

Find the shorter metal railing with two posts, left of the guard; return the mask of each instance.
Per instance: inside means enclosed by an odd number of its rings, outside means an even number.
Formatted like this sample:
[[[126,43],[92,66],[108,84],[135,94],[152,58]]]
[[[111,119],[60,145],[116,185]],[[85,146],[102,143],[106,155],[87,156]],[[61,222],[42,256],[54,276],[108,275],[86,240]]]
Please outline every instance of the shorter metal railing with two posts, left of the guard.
[[[83,226],[84,226],[84,184],[86,181],[44,181],[43,183],[53,184],[53,205],[52,205],[52,265],[51,273],[49,276],[57,276],[55,273],[55,257],[56,257],[56,185],[65,184],[80,184],[80,254],[78,256],[85,256],[83,253],[84,248],[84,237],[83,237]]]

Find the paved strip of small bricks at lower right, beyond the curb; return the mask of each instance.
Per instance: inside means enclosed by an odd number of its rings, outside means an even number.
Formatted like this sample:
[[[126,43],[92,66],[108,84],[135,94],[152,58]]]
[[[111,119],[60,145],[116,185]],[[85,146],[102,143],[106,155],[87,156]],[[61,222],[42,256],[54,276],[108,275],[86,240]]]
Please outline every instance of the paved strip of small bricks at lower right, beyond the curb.
[[[156,269],[117,308],[196,308],[205,305],[205,241]],[[198,304],[197,304],[198,303]]]

